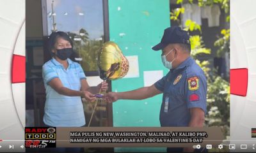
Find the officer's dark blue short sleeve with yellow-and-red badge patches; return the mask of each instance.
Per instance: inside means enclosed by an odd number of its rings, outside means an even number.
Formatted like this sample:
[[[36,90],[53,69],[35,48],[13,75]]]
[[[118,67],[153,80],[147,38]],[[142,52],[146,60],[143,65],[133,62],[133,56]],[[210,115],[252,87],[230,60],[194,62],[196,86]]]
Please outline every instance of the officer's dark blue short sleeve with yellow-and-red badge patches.
[[[202,108],[206,113],[207,82],[204,75],[188,77],[185,85],[185,98],[188,108]]]

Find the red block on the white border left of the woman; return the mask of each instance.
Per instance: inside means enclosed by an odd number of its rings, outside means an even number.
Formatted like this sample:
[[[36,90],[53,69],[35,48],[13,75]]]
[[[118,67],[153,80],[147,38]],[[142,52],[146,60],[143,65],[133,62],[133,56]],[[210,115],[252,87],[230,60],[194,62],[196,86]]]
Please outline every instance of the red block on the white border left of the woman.
[[[12,84],[22,82],[26,82],[26,57],[13,54]]]

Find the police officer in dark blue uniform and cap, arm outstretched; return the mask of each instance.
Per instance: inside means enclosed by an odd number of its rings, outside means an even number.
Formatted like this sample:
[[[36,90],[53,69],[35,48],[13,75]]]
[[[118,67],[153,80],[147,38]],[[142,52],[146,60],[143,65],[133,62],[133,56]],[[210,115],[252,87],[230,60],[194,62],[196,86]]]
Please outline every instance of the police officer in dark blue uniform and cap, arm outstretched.
[[[178,26],[168,27],[153,50],[162,50],[168,74],[150,87],[134,91],[108,92],[106,100],[145,99],[163,93],[160,123],[163,127],[203,127],[206,112],[207,82],[204,71],[190,57],[189,33]],[[168,152],[193,152],[193,149],[168,148]]]

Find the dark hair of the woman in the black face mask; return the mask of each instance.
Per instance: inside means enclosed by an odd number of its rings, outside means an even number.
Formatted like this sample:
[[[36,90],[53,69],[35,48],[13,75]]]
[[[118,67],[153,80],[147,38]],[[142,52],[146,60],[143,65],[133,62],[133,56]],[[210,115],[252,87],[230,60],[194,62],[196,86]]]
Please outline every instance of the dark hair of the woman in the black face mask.
[[[52,53],[52,49],[54,48],[54,45],[55,45],[56,41],[58,40],[58,38],[67,40],[73,48],[73,42],[67,33],[64,33],[63,31],[53,32],[53,33],[51,33],[51,35],[49,36],[49,39],[48,39],[48,50],[49,50],[51,56],[54,55],[54,53]]]

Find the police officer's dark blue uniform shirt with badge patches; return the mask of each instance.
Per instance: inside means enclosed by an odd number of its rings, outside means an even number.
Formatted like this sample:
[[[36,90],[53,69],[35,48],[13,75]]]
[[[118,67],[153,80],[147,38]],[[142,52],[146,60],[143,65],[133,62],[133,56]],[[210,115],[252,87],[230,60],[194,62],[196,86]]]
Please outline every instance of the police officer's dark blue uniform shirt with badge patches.
[[[201,108],[206,113],[207,80],[202,68],[191,57],[154,85],[163,92],[161,126],[188,126],[189,108]]]

